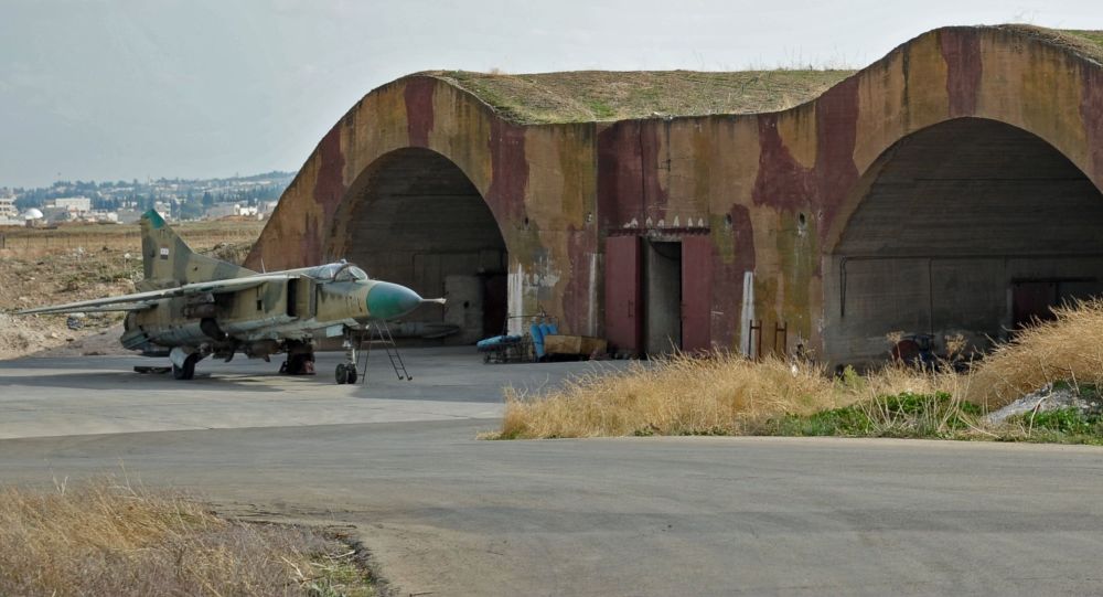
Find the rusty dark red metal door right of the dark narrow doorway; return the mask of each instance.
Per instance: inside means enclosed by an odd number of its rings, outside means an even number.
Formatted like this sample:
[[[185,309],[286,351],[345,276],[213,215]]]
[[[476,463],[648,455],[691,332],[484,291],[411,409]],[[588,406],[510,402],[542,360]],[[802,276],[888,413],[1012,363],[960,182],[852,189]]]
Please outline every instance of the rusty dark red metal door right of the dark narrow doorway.
[[[707,235],[682,239],[682,350],[711,348],[713,242]]]

